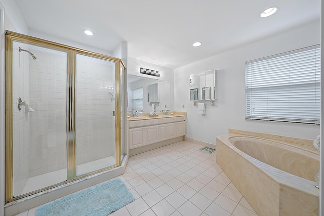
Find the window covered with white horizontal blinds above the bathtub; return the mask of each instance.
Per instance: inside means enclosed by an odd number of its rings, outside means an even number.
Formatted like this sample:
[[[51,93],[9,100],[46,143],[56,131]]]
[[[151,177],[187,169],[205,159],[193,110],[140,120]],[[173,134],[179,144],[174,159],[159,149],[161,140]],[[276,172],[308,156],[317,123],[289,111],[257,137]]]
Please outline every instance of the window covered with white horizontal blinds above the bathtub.
[[[246,119],[319,124],[320,48],[246,62]]]

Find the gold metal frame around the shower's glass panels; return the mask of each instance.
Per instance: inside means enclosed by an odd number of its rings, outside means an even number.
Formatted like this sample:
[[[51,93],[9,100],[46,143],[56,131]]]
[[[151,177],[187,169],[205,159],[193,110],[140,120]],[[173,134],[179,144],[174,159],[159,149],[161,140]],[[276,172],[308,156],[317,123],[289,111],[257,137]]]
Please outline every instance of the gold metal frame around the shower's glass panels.
[[[67,55],[67,94],[66,94],[66,157],[67,157],[67,180],[55,185],[48,186],[30,193],[14,197],[13,195],[13,43],[22,42],[28,45],[39,46],[47,49],[65,52]],[[76,176],[76,55],[107,60],[115,63],[115,158],[114,165],[98,169],[87,174]],[[32,194],[48,190],[50,188],[72,182],[98,172],[117,167],[121,164],[121,105],[120,105],[120,70],[125,69],[121,59],[85,51],[58,44],[56,42],[6,31],[6,203],[30,196]]]

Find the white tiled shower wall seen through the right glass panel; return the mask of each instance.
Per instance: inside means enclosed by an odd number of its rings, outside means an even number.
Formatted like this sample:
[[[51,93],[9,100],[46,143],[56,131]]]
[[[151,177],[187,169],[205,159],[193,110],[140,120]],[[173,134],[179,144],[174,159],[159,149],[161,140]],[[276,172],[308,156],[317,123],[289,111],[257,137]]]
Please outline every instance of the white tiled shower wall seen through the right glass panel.
[[[114,156],[114,66],[80,57],[76,66],[77,165]],[[103,89],[104,87],[104,89]],[[112,94],[112,95],[110,95]]]

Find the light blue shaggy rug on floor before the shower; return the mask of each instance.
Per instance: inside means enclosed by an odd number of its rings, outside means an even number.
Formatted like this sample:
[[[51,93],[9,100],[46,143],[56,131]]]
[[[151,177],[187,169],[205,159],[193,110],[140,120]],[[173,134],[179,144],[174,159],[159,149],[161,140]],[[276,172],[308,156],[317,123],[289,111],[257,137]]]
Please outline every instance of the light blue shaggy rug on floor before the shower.
[[[36,216],[106,216],[135,200],[120,179],[68,195],[36,210]]]

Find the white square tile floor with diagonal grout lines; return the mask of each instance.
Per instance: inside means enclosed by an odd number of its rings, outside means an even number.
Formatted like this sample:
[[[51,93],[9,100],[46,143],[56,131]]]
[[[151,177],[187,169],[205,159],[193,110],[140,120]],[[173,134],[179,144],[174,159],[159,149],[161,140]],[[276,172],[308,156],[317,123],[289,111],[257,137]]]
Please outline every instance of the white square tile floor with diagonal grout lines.
[[[131,156],[120,178],[136,200],[110,214],[257,216],[215,160],[181,141]],[[19,216],[34,216],[36,208]]]

